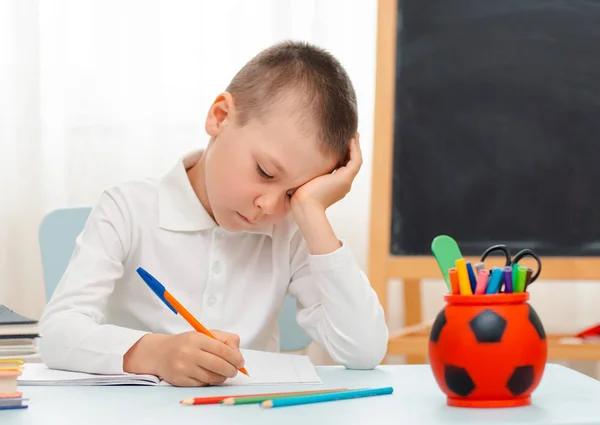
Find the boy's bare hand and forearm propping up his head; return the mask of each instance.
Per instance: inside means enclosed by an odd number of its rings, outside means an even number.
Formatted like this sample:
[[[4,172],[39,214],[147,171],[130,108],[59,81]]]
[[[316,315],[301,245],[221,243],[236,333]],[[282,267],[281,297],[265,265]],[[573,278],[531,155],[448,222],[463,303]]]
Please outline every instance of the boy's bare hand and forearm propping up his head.
[[[349,158],[346,165],[334,173],[309,181],[292,195],[292,214],[313,255],[329,254],[341,246],[325,210],[346,196],[360,170],[362,155],[358,134],[350,142]]]

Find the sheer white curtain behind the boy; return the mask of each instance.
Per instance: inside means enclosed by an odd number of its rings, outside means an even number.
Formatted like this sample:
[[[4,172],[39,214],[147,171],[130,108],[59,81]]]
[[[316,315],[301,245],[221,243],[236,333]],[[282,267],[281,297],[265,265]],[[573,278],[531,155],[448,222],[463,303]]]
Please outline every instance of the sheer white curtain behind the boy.
[[[38,317],[43,215],[205,146],[214,97],[279,40],[317,43],[346,66],[368,159],[376,12],[376,0],[0,0],[0,304]],[[362,230],[336,220],[363,265],[369,182],[367,165],[348,200]]]

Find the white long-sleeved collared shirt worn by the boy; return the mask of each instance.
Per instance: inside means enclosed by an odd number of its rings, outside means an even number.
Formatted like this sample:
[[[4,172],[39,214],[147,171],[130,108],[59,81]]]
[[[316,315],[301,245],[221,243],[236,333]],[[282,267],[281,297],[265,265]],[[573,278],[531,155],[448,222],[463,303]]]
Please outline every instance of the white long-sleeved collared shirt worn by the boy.
[[[102,193],[77,238],[40,327],[43,361],[54,368],[123,373],[123,355],[146,333],[192,330],[136,273],[143,267],[208,329],[240,336],[242,348],[278,351],[286,294],[297,321],[348,368],[373,368],[387,349],[383,309],[346,245],[310,255],[290,214],[252,232],[219,227],[186,170]]]

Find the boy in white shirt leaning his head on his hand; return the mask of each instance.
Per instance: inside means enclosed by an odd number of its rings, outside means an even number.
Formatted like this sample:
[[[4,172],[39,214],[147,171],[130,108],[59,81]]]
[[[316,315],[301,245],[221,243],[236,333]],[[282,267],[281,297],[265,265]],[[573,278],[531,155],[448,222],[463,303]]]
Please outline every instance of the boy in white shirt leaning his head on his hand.
[[[279,349],[289,294],[334,360],[375,367],[387,348],[383,310],[325,215],[359,171],[357,121],[354,88],[329,53],[293,42],[259,53],[210,107],[204,151],[161,180],[101,195],[41,319],[43,361],[221,383],[243,366],[240,346]],[[218,341],[190,331],[139,266]]]

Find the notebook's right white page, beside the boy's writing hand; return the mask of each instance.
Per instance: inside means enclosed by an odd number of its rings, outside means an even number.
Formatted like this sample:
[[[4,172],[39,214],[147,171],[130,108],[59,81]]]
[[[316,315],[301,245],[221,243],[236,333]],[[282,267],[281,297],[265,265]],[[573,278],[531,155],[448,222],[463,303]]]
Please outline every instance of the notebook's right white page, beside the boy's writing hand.
[[[238,373],[221,385],[321,384],[308,356],[241,350],[246,376]]]

